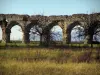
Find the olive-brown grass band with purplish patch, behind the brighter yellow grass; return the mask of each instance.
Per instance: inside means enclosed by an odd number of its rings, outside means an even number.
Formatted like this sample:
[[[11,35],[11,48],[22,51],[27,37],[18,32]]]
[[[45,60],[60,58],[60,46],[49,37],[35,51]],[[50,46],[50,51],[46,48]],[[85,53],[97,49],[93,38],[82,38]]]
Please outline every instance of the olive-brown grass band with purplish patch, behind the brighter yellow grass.
[[[92,52],[91,52],[92,51]],[[18,61],[54,61],[56,63],[67,62],[96,62],[100,61],[99,50],[74,50],[71,49],[47,49],[47,48],[21,48],[15,50],[0,50],[0,60],[18,60]]]

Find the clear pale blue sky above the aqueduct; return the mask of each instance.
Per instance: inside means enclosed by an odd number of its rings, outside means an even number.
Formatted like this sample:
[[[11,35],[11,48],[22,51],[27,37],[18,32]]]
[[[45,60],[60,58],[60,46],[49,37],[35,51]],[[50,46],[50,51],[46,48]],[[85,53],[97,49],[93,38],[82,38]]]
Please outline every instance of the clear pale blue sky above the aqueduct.
[[[72,15],[100,12],[100,0],[0,0],[0,14]],[[15,26],[14,33],[19,27]],[[19,28],[20,29],[20,28]],[[12,33],[12,36],[16,36]],[[19,38],[19,34],[17,34]],[[22,33],[21,33],[22,35]],[[20,37],[21,37],[20,35]],[[2,30],[0,29],[0,39]],[[14,39],[14,37],[12,37]]]

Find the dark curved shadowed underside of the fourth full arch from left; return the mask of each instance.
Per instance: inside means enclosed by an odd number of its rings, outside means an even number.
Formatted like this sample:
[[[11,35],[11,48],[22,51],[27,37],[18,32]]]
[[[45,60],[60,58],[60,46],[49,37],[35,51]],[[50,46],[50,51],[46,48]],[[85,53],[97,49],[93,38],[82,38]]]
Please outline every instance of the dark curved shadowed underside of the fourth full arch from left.
[[[83,27],[82,24],[79,21],[74,21],[73,23],[71,23],[71,24],[68,25],[67,31],[66,31],[66,34],[67,34],[67,43],[68,44],[71,43],[71,31],[72,31],[72,29],[75,26],[81,26],[81,27]]]

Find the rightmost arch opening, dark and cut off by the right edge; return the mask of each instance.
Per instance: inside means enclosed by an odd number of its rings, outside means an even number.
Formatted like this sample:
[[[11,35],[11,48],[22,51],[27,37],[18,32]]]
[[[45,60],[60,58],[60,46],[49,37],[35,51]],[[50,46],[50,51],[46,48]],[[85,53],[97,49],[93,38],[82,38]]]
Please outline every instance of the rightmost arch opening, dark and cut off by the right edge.
[[[100,21],[94,21],[88,29],[89,40],[88,43],[99,44],[100,43]]]

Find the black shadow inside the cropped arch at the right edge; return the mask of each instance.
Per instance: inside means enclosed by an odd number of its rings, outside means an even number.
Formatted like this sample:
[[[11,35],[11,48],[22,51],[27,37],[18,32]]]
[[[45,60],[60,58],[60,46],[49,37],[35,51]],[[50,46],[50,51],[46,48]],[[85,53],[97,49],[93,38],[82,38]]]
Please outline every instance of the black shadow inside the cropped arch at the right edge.
[[[93,35],[95,35],[96,33],[100,32],[99,31],[96,31],[98,28],[100,28],[100,21],[94,21],[94,22],[91,22],[89,27],[88,27],[88,30],[87,30],[87,35],[88,35],[88,43],[89,44],[98,44],[100,42],[98,41],[94,41],[93,40]]]

